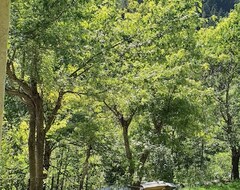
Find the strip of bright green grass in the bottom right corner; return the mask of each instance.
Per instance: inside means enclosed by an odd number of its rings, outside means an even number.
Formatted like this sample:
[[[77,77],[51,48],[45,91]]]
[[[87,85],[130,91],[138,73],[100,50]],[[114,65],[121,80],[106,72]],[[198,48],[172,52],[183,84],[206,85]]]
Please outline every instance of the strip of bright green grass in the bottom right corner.
[[[228,184],[217,184],[202,187],[186,187],[182,190],[240,190],[240,181]]]

